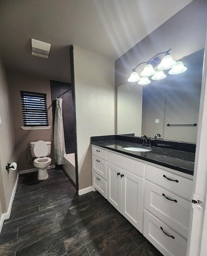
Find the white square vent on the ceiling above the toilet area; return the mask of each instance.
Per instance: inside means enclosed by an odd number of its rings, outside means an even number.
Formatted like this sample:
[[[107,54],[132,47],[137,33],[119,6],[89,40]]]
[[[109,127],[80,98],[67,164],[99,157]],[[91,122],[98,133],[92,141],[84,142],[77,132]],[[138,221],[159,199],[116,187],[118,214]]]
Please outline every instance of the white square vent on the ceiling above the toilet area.
[[[31,38],[31,41],[32,41],[32,55],[47,59],[51,44],[41,42],[32,38]]]

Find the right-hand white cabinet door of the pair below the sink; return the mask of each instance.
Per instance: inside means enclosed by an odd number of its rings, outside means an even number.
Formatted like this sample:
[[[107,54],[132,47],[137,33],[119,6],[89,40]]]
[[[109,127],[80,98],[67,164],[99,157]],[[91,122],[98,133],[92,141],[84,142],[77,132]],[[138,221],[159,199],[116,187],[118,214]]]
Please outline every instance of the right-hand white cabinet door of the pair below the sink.
[[[143,231],[144,180],[122,169],[121,194],[122,214],[141,233]]]

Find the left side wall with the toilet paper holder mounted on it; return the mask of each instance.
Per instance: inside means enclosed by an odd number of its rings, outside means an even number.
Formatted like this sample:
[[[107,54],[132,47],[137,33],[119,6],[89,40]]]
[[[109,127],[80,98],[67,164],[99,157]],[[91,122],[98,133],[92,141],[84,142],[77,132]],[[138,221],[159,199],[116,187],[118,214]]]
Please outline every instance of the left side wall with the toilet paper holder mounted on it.
[[[2,213],[7,212],[16,182],[17,170],[6,171],[7,163],[16,162],[14,129],[10,108],[10,97],[4,68],[0,62],[0,201]]]

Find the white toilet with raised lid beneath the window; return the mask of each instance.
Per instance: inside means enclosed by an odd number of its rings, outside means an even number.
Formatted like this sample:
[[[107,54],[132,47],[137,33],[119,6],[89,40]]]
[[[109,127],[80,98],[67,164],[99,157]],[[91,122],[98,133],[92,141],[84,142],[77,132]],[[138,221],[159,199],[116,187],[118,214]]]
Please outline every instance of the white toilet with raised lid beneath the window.
[[[51,152],[51,142],[38,140],[30,142],[31,156],[36,157],[33,165],[38,168],[38,179],[44,180],[49,177],[47,167],[51,164],[51,158],[47,157]]]

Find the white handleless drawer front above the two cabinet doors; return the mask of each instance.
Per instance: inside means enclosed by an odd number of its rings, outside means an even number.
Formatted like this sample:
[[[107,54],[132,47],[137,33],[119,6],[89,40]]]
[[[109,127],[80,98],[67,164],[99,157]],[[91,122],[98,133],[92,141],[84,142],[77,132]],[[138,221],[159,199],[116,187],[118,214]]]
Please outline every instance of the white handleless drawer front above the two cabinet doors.
[[[138,175],[144,177],[145,164],[134,159],[124,157],[122,155],[114,154],[112,152],[107,152],[107,162],[112,163]]]

